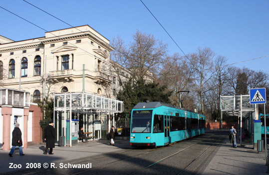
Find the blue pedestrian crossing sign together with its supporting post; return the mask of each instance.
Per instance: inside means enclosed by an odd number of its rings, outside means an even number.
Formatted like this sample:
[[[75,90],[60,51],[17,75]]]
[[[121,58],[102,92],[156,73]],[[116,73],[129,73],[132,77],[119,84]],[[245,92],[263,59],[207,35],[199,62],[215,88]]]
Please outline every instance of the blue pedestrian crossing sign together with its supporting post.
[[[265,143],[266,143],[266,158],[267,158],[267,142],[266,142],[266,88],[251,88],[250,89],[251,104],[264,104],[265,113]],[[267,162],[268,163],[268,162]]]

